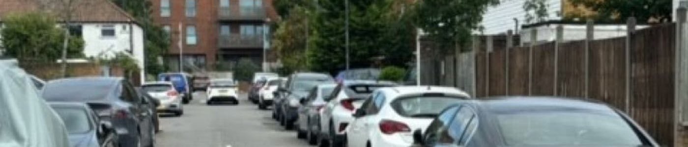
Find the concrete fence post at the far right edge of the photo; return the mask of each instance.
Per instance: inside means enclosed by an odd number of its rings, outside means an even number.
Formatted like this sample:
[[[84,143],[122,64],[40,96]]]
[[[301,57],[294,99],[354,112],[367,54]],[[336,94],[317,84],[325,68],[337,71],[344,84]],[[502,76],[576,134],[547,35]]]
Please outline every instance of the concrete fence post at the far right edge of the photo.
[[[686,110],[685,102],[688,98],[688,45],[686,45],[686,8],[678,8],[676,10],[676,50],[674,66],[676,73],[674,74],[674,146],[684,146],[682,134],[685,130],[682,129],[685,122]]]

